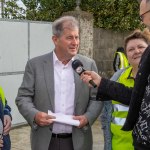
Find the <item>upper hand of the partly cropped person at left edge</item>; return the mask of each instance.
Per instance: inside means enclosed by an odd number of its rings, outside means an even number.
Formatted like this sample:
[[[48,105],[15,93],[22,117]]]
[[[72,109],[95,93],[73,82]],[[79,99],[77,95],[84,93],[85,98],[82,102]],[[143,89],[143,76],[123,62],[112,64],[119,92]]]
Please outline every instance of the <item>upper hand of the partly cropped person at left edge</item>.
[[[9,115],[4,115],[4,135],[9,134],[11,129],[11,117]]]

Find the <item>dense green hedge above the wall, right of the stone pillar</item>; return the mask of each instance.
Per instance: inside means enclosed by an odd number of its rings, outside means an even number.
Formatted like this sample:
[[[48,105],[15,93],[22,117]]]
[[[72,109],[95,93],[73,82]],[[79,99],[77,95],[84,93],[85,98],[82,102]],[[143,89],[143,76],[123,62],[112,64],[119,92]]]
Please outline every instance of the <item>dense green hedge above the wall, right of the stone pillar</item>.
[[[94,26],[115,31],[141,28],[139,4],[132,0],[82,0],[82,10],[94,15]]]

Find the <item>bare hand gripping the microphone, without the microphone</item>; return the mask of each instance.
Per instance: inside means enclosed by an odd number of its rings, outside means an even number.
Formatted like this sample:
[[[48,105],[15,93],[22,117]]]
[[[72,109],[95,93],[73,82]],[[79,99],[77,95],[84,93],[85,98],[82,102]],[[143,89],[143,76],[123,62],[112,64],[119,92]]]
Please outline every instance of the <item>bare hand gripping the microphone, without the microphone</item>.
[[[90,80],[93,80],[93,82],[97,85],[97,87],[100,85],[101,82],[101,76],[99,76],[96,72],[94,71],[84,71],[81,74],[81,80],[83,82],[87,83],[88,86],[92,87],[91,84],[89,83]]]

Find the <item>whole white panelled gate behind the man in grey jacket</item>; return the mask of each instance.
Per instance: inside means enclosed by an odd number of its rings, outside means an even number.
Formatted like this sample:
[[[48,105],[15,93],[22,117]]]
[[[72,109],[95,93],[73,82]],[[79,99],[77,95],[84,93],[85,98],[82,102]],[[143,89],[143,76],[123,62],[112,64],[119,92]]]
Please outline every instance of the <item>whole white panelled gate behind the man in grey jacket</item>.
[[[12,124],[26,123],[15,104],[25,65],[29,58],[53,50],[49,22],[0,19],[0,85],[12,108]]]

